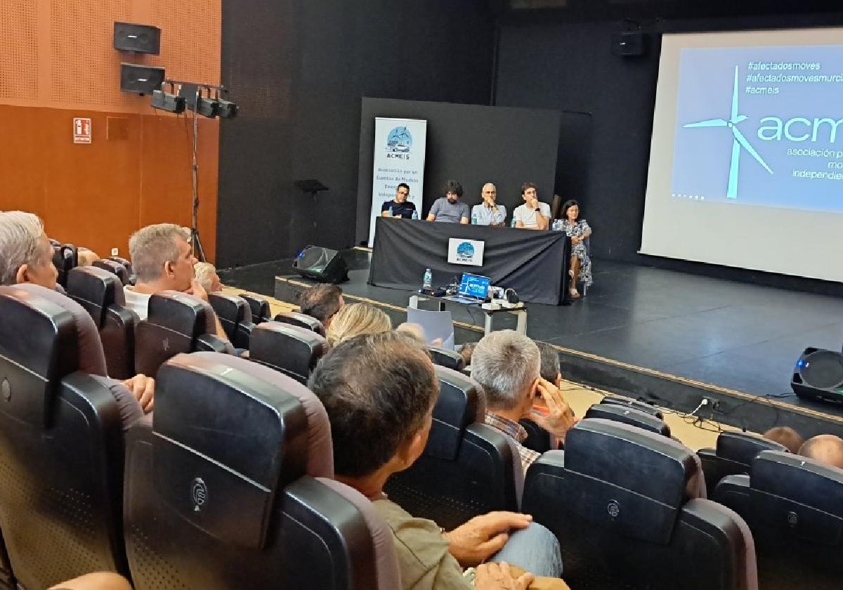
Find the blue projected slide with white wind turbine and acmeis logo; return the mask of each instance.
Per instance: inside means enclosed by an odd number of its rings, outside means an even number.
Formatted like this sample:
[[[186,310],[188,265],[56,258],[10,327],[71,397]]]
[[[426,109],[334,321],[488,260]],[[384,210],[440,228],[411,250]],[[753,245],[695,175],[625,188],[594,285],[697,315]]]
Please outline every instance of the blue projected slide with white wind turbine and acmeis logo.
[[[841,46],[683,48],[672,196],[843,211],[841,110]]]

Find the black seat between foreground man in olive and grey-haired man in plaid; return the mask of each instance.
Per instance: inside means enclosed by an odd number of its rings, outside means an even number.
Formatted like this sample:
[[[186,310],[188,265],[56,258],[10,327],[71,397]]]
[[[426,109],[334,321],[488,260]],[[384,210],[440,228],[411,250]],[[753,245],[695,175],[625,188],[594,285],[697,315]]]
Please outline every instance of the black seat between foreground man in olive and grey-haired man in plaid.
[[[427,446],[384,491],[414,517],[454,528],[478,514],[518,510],[524,474],[514,442],[484,421],[480,386],[436,367],[441,391]]]

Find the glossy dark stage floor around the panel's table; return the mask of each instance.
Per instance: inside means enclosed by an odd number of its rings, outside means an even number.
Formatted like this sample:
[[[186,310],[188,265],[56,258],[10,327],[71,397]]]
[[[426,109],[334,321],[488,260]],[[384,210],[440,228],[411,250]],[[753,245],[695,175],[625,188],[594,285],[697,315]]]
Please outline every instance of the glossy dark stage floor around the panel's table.
[[[367,284],[367,250],[347,250],[343,255],[351,269],[351,280],[341,286],[344,292],[381,303],[394,314],[406,307],[409,292]],[[843,416],[843,408],[788,396],[792,393],[792,368],[804,348],[840,350],[843,301],[839,298],[606,260],[594,260],[593,269],[594,284],[586,298],[567,307],[528,304],[530,337],[614,362]],[[276,281],[270,288],[273,274],[305,282],[292,272],[289,260],[221,272],[228,285],[289,301],[290,293],[279,287],[283,282]],[[482,327],[480,309],[448,308],[455,321]],[[394,318],[400,319],[400,314]],[[514,322],[508,314],[495,316],[496,329],[514,327]],[[477,330],[458,329],[456,341],[475,341],[481,335]]]

